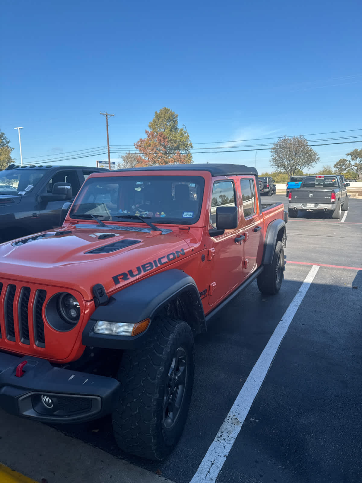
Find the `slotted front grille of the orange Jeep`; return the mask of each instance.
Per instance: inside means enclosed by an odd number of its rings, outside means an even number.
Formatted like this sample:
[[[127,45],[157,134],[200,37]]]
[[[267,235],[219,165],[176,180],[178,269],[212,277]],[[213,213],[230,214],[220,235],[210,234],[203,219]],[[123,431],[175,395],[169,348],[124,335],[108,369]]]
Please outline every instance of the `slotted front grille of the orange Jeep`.
[[[45,347],[42,308],[46,290],[0,282],[0,342],[21,342]],[[2,310],[1,310],[2,306]],[[2,330],[4,329],[4,330]],[[0,343],[0,348],[3,344]],[[13,347],[14,349],[14,347]]]

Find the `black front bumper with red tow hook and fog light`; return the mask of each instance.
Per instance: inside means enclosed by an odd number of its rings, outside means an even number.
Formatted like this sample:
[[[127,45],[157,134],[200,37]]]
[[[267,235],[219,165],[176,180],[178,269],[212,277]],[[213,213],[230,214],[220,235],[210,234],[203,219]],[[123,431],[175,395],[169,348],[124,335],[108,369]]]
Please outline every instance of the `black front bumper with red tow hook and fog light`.
[[[16,368],[24,361],[24,374],[17,377]],[[97,419],[113,411],[119,389],[111,377],[0,352],[0,407],[16,416],[57,423]]]

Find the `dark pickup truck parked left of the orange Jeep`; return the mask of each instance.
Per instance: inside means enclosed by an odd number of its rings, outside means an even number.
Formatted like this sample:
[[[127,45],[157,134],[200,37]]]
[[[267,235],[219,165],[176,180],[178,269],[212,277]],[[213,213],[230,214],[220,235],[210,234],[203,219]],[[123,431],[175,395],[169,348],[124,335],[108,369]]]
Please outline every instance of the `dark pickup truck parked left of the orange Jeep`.
[[[11,164],[0,171],[0,243],[60,226],[63,204],[98,171],[108,170]]]

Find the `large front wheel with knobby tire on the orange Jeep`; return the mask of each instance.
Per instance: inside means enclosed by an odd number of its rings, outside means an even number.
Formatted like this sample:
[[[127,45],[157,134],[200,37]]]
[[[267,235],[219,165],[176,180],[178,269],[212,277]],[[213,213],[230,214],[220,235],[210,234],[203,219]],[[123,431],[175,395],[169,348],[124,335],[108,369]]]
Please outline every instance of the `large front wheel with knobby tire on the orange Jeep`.
[[[125,351],[117,379],[121,394],[112,414],[125,453],[161,460],[176,446],[194,383],[194,338],[184,321],[157,317],[145,342]]]

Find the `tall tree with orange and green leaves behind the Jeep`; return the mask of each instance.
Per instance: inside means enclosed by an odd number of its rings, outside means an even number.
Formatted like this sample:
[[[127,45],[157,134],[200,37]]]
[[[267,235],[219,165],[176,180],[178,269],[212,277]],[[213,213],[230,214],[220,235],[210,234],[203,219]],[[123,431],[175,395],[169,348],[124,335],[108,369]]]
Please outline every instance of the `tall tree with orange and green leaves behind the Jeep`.
[[[137,166],[190,164],[192,143],[186,129],[178,127],[178,114],[164,107],[155,112],[145,130],[146,138],[135,142]]]

